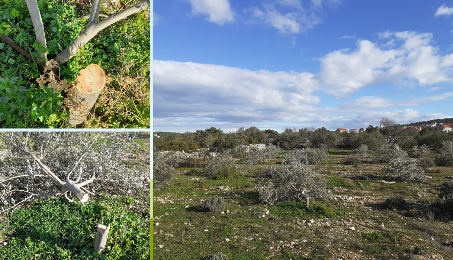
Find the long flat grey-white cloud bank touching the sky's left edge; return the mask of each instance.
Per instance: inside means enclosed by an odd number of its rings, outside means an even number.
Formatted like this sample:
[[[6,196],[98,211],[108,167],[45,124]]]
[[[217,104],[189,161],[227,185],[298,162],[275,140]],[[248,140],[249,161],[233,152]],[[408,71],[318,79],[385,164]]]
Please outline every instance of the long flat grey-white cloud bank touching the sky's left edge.
[[[154,60],[153,75],[157,117],[280,120],[294,111],[308,113],[319,102],[311,95],[318,81],[306,72]]]

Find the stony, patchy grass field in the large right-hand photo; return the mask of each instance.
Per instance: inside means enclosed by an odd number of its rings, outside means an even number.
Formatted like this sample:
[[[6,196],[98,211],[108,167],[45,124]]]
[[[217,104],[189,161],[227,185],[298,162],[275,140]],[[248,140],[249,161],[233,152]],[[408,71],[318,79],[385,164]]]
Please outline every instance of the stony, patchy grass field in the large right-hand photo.
[[[231,260],[448,259],[426,245],[453,255],[453,218],[436,204],[437,187],[453,176],[453,168],[429,168],[432,178],[423,184],[382,185],[385,165],[371,159],[347,165],[344,157],[351,153],[330,150],[329,162],[318,169],[335,198],[311,201],[309,207],[260,204],[255,173],[265,165],[246,167],[239,179],[211,180],[189,175],[183,164],[168,188],[154,192],[155,259],[206,259],[215,253]],[[198,210],[215,195],[226,200],[227,213]],[[391,196],[402,196],[407,208],[387,209],[384,201]]]

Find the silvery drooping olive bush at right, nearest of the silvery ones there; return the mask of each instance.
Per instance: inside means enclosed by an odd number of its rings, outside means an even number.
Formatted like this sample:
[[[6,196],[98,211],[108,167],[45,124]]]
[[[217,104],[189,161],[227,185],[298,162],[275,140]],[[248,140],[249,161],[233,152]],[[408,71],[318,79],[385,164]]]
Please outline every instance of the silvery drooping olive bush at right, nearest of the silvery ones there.
[[[418,161],[409,157],[396,157],[390,160],[390,166],[386,168],[390,179],[395,182],[414,183],[426,181],[426,175]]]

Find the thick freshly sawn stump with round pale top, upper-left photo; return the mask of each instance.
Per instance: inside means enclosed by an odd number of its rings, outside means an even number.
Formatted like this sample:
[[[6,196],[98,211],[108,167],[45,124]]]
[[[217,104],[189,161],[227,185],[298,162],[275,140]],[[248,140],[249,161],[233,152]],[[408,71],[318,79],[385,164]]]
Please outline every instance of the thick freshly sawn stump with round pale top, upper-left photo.
[[[85,116],[96,103],[106,83],[106,74],[97,64],[82,69],[76,79],[75,109],[69,111],[68,122],[73,126],[82,124]]]

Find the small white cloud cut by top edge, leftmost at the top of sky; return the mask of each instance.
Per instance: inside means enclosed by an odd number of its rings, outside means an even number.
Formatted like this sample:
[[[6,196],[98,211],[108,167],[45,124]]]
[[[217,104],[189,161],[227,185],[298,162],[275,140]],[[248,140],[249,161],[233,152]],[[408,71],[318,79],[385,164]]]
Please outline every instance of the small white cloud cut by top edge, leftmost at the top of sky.
[[[189,0],[192,4],[192,13],[195,15],[209,15],[207,20],[217,25],[234,22],[234,12],[228,0]]]

